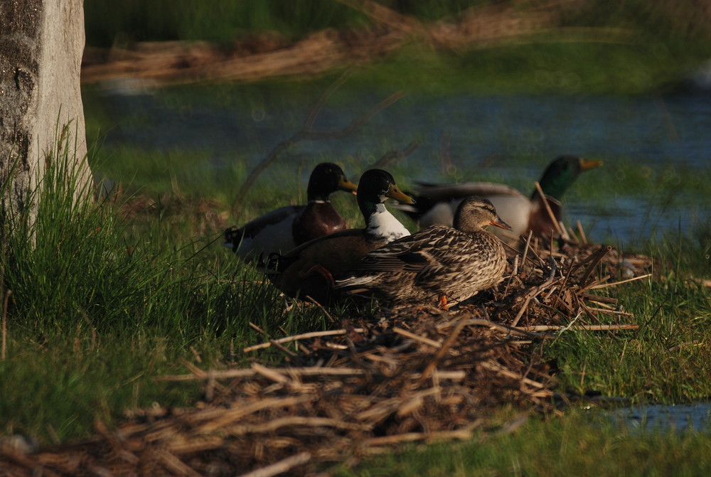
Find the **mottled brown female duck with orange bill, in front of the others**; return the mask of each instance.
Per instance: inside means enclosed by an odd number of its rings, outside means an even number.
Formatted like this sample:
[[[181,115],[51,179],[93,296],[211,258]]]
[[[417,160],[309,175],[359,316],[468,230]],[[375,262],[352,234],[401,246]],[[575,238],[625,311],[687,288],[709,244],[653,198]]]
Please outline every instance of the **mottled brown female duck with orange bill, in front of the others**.
[[[510,228],[491,201],[465,198],[454,228],[432,225],[369,252],[336,277],[335,288],[370,291],[392,303],[439,300],[448,309],[501,280],[506,253],[501,240],[484,230],[487,225]]]

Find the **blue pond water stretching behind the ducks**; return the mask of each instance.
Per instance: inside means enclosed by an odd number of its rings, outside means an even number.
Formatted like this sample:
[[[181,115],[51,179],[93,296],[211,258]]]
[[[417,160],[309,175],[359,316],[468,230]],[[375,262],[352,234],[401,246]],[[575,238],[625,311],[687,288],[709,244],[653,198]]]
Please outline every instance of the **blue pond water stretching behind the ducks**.
[[[270,90],[270,88],[272,88]],[[288,96],[261,87],[244,100],[239,86],[196,86],[150,90],[146,94],[102,96],[118,126],[104,148],[212,151],[205,167],[220,171],[236,156],[256,164],[303,124],[323,87]],[[136,92],[136,90],[131,90]],[[140,92],[140,91],[139,91]],[[346,127],[390,92],[351,89],[326,104],[317,130]],[[390,149],[422,142],[405,160],[413,180],[497,178],[529,193],[548,161],[561,154],[603,159],[607,181],[623,180],[634,168],[665,188],[617,188],[606,195],[583,194],[585,176],[567,194],[567,220],[580,220],[588,237],[618,243],[654,234],[692,233],[711,217],[704,181],[711,180],[711,95],[662,97],[410,95],[370,119],[345,139],[302,141],[280,164],[355,157],[366,168]],[[447,159],[442,160],[442,145]],[[360,171],[353,171],[355,176]],[[308,171],[304,171],[307,174]],[[357,177],[357,176],[356,176]],[[306,181],[306,177],[304,177]],[[653,185],[653,184],[652,184]]]

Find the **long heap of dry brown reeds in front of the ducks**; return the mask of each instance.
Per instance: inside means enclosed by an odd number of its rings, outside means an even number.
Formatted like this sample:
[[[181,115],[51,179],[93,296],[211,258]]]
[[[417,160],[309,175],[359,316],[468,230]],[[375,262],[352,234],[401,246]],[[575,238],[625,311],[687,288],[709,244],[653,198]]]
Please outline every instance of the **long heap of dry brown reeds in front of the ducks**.
[[[534,245],[512,251],[503,281],[453,311],[413,305],[351,316],[341,329],[246,348],[250,368],[185,363],[190,373],[157,379],[203,382],[194,407],[130,409],[115,429],[97,422],[92,439],[72,444],[6,441],[0,475],[314,475],[395,444],[486,434],[502,404],[555,410],[555,365],[542,360],[540,342],[571,329],[636,328],[600,293],[646,277],[648,259],[635,259],[635,277],[609,282],[626,275],[630,257],[599,245]],[[265,365],[264,348],[279,350],[282,364]]]

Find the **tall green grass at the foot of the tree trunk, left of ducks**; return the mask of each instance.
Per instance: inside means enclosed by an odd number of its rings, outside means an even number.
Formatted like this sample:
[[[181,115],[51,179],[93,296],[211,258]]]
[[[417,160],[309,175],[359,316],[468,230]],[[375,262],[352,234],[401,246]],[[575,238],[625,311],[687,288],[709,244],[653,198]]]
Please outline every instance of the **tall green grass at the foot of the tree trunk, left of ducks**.
[[[214,237],[190,238],[195,224],[178,213],[127,220],[120,201],[72,200],[65,160],[52,161],[36,220],[4,223],[0,291],[11,295],[0,380],[18,384],[4,386],[0,434],[64,441],[127,407],[189,405],[194,387],[153,378],[180,372],[181,359],[242,360],[232,350],[264,339],[250,321],[277,334],[325,326],[314,309],[296,319]]]

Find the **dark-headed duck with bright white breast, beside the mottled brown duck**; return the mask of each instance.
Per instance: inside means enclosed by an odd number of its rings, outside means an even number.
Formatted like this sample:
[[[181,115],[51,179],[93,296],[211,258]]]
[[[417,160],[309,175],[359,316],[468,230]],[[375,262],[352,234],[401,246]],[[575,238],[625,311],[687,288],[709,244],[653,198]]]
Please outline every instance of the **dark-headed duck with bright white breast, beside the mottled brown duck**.
[[[410,235],[385,208],[388,197],[403,203],[413,202],[400,192],[390,173],[382,169],[365,171],[358,182],[358,207],[365,228],[341,230],[271,257],[267,270],[269,279],[288,296],[311,296],[321,303],[328,301],[333,274],[357,262],[370,250]]]

